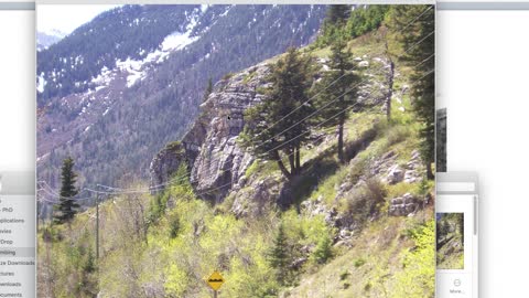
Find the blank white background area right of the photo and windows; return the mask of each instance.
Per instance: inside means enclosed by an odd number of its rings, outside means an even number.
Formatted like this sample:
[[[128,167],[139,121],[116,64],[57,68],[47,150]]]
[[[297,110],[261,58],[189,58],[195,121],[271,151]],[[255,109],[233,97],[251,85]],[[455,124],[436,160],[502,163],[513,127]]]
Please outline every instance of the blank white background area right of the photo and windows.
[[[529,11],[438,12],[447,169],[479,174],[479,297],[528,297]]]

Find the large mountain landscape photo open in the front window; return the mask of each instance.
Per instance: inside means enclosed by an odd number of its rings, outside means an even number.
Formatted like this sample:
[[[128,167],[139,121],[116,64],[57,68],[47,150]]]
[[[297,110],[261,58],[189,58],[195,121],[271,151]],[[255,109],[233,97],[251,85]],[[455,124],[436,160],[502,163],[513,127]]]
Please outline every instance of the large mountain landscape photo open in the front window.
[[[434,6],[36,14],[40,297],[434,297]]]

